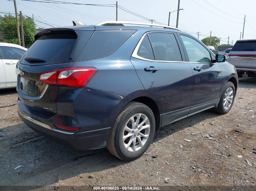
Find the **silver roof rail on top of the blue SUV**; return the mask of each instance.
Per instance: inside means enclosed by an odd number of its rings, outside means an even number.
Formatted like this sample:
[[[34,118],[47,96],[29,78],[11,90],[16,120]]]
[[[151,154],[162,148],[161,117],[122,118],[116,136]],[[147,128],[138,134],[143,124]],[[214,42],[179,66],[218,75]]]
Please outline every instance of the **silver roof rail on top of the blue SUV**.
[[[95,25],[96,26],[124,26],[124,24],[145,25],[145,26],[151,26],[151,27],[163,27],[163,28],[181,30],[179,28],[168,26],[168,25],[151,24],[151,23],[138,23],[138,22],[129,22],[129,21],[103,21],[103,22],[95,24]]]

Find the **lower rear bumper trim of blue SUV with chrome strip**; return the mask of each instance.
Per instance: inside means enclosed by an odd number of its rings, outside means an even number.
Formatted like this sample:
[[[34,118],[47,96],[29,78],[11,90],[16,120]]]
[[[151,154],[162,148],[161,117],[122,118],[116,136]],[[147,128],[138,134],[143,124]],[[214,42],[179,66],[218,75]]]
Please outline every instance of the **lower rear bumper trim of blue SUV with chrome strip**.
[[[64,132],[32,118],[18,107],[18,115],[22,121],[39,134],[63,145],[79,149],[91,150],[104,148],[110,127],[86,132]]]

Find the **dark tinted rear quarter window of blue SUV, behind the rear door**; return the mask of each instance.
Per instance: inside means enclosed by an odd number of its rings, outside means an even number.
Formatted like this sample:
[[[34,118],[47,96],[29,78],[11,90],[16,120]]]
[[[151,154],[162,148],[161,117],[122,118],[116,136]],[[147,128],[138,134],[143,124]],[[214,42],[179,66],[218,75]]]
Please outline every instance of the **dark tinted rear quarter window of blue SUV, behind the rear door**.
[[[88,60],[107,56],[115,51],[134,31],[95,31],[81,52],[78,60]]]

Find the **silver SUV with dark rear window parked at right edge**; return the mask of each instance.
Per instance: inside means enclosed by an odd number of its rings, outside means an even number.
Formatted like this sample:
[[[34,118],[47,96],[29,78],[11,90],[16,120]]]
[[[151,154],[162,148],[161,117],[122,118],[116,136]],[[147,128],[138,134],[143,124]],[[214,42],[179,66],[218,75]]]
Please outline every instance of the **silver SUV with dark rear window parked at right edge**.
[[[256,39],[237,40],[228,62],[235,66],[239,77],[256,77]]]

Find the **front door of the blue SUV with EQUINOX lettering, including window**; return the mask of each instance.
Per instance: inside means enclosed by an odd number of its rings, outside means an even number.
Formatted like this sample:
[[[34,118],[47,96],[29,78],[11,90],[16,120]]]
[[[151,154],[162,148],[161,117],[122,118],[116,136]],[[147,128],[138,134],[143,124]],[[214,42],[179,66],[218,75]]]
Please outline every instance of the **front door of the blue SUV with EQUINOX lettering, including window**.
[[[222,85],[222,73],[209,50],[198,40],[179,35],[186,59],[193,69],[194,83],[189,115],[216,106]]]

